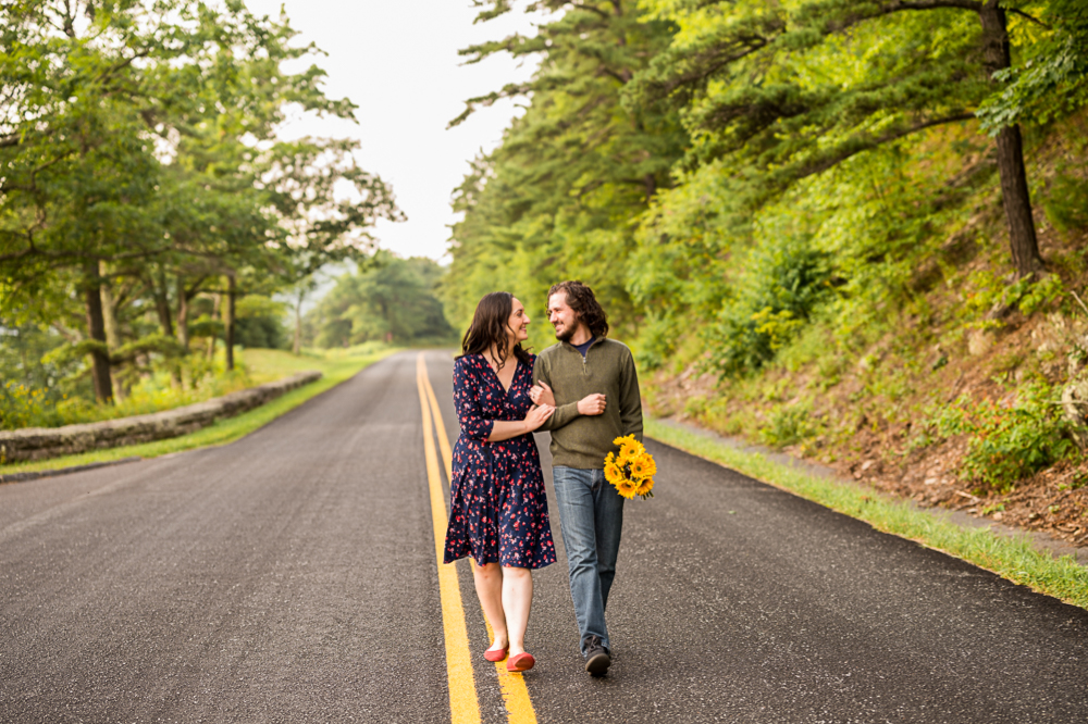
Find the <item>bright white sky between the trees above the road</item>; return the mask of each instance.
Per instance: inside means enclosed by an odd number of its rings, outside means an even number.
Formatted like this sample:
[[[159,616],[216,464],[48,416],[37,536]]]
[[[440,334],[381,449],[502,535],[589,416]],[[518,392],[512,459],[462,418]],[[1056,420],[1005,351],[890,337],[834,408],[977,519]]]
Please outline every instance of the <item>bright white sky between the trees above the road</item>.
[[[351,99],[358,125],[298,118],[281,135],[351,136],[362,143],[362,167],[393,186],[400,224],[381,222],[380,245],[403,257],[448,261],[448,226],[456,221],[449,201],[469,161],[492,150],[520,111],[512,102],[481,109],[446,130],[463,101],[528,79],[534,65],[519,66],[507,55],[461,65],[457,51],[506,37],[533,35],[533,17],[520,10],[473,25],[471,0],[246,0],[257,14],[279,15],[284,7],[299,42],[314,42],[327,57],[330,98]],[[310,63],[307,62],[308,66]],[[295,70],[295,68],[287,68]]]

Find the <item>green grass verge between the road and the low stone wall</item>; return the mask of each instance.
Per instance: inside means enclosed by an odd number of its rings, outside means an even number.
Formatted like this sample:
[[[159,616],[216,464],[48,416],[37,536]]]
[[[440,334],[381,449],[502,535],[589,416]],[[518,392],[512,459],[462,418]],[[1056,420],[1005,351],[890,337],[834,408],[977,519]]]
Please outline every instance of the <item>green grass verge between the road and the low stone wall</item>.
[[[49,460],[0,465],[0,475],[60,470],[62,467],[111,462],[133,457],[158,458],[159,455],[181,452],[182,450],[226,445],[267,425],[285,412],[293,410],[326,389],[335,387],[360,370],[388,357],[395,351],[397,351],[395,348],[375,349],[373,346],[361,346],[360,348],[345,350],[330,350],[322,354],[307,353],[295,357],[288,352],[279,350],[245,350],[242,360],[249,367],[250,376],[257,384],[281,379],[306,370],[319,370],[322,373],[322,377],[316,383],[294,389],[268,404],[250,410],[237,417],[221,420],[210,427],[205,427],[189,435],[121,448],[94,450],[75,455],[64,455],[62,458],[50,458]]]

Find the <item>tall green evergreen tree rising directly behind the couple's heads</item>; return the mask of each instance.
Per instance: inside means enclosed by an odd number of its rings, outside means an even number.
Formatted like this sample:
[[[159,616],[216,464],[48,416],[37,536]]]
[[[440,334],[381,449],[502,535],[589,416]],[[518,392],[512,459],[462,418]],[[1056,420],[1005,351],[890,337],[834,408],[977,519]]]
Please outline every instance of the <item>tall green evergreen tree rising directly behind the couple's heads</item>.
[[[511,10],[481,2],[487,21]],[[552,13],[535,37],[514,35],[461,51],[474,63],[498,52],[540,57],[532,80],[468,101],[463,122],[499,98],[529,98],[502,146],[477,159],[457,190],[449,284],[443,294],[458,323],[485,291],[505,287],[542,309],[548,285],[578,275],[613,314],[632,324],[622,267],[632,248],[632,221],[658,189],[687,137],[678,114],[662,104],[625,105],[621,90],[664,50],[666,23],[642,22],[636,4],[526,3]],[[537,335],[543,327],[534,330]],[[541,336],[543,340],[544,337]]]

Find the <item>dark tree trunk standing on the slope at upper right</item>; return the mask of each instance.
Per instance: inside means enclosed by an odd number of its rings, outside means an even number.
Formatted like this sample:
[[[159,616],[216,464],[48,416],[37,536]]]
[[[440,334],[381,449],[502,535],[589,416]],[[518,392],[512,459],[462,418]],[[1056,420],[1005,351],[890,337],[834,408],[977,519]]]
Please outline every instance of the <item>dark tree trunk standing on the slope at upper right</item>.
[[[988,0],[979,11],[982,21],[982,51],[987,73],[991,78],[1012,64],[1009,51],[1009,29],[1005,11],[998,0]],[[1005,126],[998,134],[998,172],[1001,175],[1001,197],[1009,221],[1009,246],[1016,276],[1025,277],[1046,269],[1039,255],[1039,241],[1031,216],[1031,198],[1024,167],[1024,143],[1018,125]]]

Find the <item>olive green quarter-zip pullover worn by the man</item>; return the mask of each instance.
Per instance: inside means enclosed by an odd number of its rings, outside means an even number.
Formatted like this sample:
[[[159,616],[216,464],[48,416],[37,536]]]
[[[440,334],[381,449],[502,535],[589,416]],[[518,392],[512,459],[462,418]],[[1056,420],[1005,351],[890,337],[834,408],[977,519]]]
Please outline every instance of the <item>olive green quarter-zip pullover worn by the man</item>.
[[[597,339],[585,358],[568,342],[548,347],[536,358],[533,383],[544,382],[555,394],[555,414],[541,427],[552,433],[552,464],[601,470],[605,455],[619,449],[613,440],[634,435],[642,441],[642,398],[634,358],[627,345]],[[578,401],[605,396],[605,411],[582,415]]]

